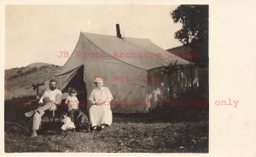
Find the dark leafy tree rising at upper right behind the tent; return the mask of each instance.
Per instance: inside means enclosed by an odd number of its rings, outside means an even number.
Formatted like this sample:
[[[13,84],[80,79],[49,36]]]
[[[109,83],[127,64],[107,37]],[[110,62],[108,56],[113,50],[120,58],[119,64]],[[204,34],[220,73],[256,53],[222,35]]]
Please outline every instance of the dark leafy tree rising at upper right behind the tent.
[[[183,25],[174,37],[200,54],[195,62],[208,63],[208,6],[180,5],[171,12],[171,16],[175,23]]]

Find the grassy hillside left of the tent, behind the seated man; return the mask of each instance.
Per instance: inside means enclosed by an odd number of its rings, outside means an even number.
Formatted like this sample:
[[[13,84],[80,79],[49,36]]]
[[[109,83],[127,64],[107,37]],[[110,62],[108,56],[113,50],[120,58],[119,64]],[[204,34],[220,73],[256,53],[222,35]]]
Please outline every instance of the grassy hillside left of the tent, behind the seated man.
[[[61,67],[48,63],[32,63],[26,67],[11,68],[4,72],[4,100],[34,96],[32,83],[44,83]]]

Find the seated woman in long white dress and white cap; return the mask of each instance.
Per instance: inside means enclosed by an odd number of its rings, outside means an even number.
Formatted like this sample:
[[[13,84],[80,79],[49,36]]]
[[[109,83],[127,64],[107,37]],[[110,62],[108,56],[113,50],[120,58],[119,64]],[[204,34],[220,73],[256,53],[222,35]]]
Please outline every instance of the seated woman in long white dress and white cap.
[[[95,79],[96,89],[90,93],[89,101],[92,106],[89,109],[90,124],[93,131],[97,128],[103,129],[105,126],[112,124],[112,111],[110,109],[110,102],[113,96],[107,87],[103,86],[103,79]]]

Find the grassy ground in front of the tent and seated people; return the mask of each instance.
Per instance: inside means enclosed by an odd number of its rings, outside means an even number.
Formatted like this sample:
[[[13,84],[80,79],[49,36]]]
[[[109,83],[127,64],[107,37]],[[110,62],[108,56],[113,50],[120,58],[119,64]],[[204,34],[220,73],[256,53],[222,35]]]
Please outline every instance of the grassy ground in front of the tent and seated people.
[[[158,109],[151,113],[113,113],[113,125],[98,132],[61,134],[61,123],[30,138],[31,120],[15,99],[5,101],[5,152],[208,152],[208,108]]]

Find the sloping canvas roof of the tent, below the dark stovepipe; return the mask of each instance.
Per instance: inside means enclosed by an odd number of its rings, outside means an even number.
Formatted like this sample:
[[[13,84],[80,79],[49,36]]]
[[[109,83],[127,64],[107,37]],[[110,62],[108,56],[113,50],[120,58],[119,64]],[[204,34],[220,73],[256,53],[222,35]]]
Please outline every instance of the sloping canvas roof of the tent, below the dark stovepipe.
[[[125,37],[120,39],[116,36],[89,32],[81,32],[81,34],[108,55],[134,67],[149,70],[154,67],[168,66],[176,61],[177,64],[189,64],[189,61],[177,55],[171,55],[165,49],[152,43],[150,39]]]

